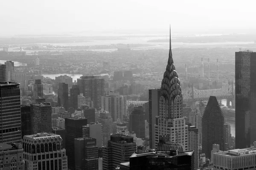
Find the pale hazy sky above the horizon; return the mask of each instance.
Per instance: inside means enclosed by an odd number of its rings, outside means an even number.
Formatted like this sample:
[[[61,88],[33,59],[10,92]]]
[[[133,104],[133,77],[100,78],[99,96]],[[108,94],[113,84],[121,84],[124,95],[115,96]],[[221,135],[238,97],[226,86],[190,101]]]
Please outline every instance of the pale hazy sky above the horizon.
[[[5,0],[0,35],[256,29],[254,0]]]

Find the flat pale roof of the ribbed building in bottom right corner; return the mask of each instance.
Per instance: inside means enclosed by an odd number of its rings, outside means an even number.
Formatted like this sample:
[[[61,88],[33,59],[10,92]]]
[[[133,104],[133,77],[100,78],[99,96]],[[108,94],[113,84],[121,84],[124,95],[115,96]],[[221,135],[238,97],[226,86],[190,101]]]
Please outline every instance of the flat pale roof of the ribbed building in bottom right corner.
[[[233,150],[227,150],[223,152],[214,153],[216,155],[222,155],[222,156],[241,156],[241,155],[252,155],[256,154],[256,148],[249,147],[244,149],[233,149]]]

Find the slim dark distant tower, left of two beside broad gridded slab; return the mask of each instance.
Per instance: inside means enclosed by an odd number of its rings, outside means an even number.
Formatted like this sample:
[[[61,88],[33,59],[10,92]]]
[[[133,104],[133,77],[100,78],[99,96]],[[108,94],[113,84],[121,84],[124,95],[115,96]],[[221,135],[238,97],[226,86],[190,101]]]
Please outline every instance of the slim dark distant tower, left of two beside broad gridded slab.
[[[68,107],[68,86],[64,82],[58,83],[58,106],[63,106],[66,111]]]

